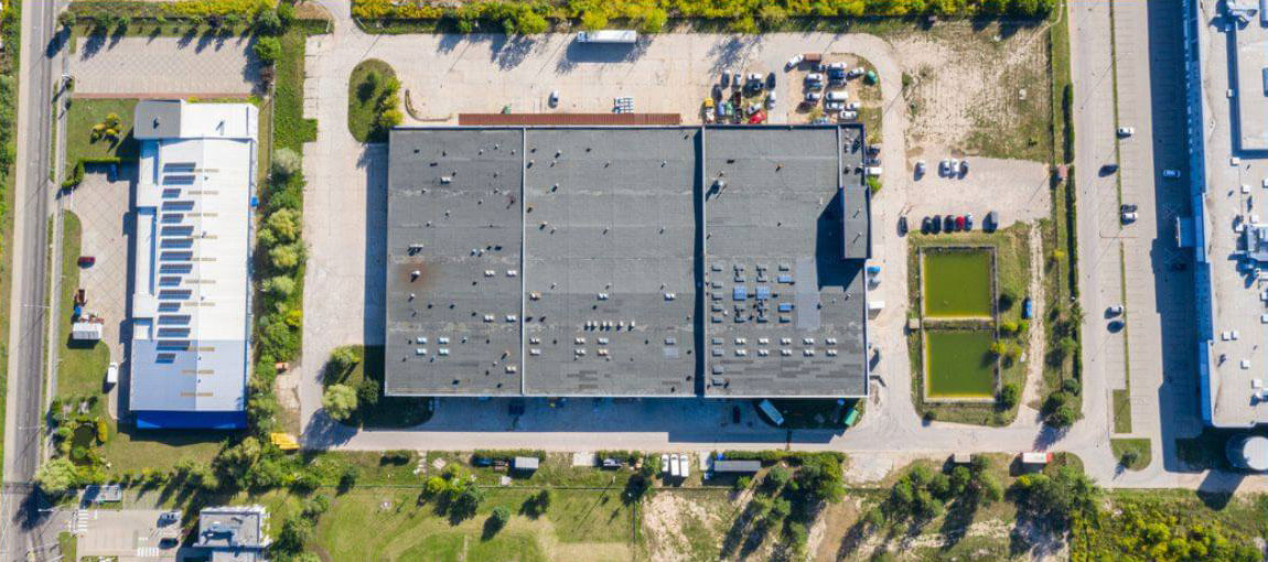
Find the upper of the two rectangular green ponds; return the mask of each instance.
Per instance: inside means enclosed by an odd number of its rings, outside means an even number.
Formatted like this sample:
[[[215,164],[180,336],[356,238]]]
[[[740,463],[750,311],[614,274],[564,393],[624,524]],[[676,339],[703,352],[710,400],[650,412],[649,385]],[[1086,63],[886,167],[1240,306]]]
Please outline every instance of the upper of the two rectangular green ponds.
[[[926,249],[922,252],[924,316],[989,318],[992,316],[990,250]]]

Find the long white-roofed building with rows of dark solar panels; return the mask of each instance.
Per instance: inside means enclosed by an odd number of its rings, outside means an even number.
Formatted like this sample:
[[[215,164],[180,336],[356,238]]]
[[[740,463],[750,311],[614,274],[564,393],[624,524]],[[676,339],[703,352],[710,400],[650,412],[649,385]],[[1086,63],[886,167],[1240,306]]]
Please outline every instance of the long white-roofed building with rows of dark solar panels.
[[[138,428],[246,426],[251,104],[137,104],[128,408]]]

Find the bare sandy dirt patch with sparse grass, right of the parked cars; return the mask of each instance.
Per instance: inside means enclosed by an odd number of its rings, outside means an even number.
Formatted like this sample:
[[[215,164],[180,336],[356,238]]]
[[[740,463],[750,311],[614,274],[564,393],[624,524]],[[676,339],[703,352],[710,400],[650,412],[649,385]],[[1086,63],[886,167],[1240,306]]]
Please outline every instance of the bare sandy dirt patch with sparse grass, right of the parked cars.
[[[1046,161],[1047,28],[940,24],[890,41],[902,53],[908,138],[924,152]]]

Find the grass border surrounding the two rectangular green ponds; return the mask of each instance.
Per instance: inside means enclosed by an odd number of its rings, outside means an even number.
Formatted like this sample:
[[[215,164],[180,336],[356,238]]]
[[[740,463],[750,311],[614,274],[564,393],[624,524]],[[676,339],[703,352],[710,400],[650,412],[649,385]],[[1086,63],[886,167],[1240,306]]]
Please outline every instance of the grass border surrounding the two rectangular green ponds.
[[[973,246],[993,246],[995,249],[995,283],[998,284],[999,302],[997,303],[998,317],[1000,323],[1013,322],[1018,323],[1022,320],[1022,299],[1030,291],[1030,268],[1031,268],[1031,254],[1030,254],[1030,225],[1013,225],[1008,228],[1003,228],[995,232],[954,232],[954,233],[941,233],[941,235],[921,235],[918,232],[908,233],[908,245],[910,246],[908,252],[908,299],[909,302],[919,302],[919,268],[917,251],[921,247],[932,246],[947,246],[947,245],[973,245]],[[1026,335],[1021,334],[1014,337],[1002,337],[1007,344],[1022,345],[1026,344]],[[908,358],[912,364],[912,397],[915,401],[915,408],[923,415],[932,414],[940,421],[952,421],[960,424],[978,424],[989,426],[1003,426],[1012,422],[1017,417],[1017,408],[1002,410],[993,403],[926,403],[924,391],[923,391],[923,364],[921,353],[921,337],[918,332],[912,332],[908,339]],[[1041,358],[1027,356],[1026,360],[1037,360]],[[1000,362],[1000,379],[999,384],[1017,384],[1019,388],[1025,388],[1026,383],[1026,362],[1016,360]]]

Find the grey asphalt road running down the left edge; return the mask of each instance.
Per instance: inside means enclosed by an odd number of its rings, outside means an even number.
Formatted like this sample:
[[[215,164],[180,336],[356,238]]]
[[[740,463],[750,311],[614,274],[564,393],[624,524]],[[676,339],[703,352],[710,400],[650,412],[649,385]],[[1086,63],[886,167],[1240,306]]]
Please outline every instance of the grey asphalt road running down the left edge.
[[[29,482],[41,461],[43,412],[46,254],[52,96],[57,76],[49,47],[57,3],[25,1],[22,18],[22,88],[19,90],[16,197],[14,204],[13,293],[9,335],[9,393],[5,422],[4,482],[0,488],[0,561],[27,561],[39,546],[38,492]],[[39,549],[37,549],[39,551]],[[38,552],[34,559],[42,559]]]

